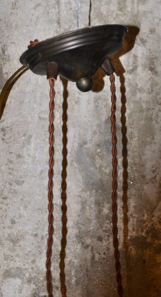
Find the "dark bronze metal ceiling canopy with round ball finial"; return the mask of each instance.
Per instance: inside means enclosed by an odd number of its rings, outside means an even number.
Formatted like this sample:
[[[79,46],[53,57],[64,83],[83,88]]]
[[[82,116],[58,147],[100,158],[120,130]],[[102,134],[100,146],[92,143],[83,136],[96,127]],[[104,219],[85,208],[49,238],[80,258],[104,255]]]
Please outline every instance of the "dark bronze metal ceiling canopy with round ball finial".
[[[67,32],[29,48],[20,62],[39,75],[46,75],[46,65],[56,62],[60,76],[89,91],[92,77],[106,57],[121,49],[127,31],[122,25],[102,25]]]

